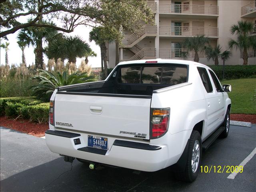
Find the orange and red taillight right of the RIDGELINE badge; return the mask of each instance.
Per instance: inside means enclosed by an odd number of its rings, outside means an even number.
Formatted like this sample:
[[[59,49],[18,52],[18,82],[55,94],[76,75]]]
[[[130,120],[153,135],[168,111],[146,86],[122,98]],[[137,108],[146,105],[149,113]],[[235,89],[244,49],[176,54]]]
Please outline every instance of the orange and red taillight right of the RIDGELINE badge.
[[[163,136],[168,130],[170,108],[151,109],[151,139]]]

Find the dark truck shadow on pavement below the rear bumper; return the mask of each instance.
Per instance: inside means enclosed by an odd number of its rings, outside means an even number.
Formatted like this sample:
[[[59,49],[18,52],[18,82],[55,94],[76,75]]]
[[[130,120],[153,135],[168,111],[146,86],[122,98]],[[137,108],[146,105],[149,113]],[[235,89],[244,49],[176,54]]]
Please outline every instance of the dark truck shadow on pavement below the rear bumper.
[[[171,186],[177,190],[188,186],[175,180],[168,169],[133,172],[112,167],[90,170],[86,164],[74,160],[71,165],[62,157],[2,180],[1,191],[166,191]]]

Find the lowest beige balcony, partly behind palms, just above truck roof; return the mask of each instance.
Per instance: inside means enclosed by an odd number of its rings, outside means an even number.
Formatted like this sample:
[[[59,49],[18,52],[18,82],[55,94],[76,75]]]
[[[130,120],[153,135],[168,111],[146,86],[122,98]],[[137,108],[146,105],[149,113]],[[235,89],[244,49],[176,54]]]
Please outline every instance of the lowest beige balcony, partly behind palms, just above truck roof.
[[[159,57],[161,59],[183,59],[182,53],[187,52],[186,49],[159,49]],[[194,58],[194,51],[188,52],[188,58]],[[204,53],[198,53],[199,58],[204,58]]]

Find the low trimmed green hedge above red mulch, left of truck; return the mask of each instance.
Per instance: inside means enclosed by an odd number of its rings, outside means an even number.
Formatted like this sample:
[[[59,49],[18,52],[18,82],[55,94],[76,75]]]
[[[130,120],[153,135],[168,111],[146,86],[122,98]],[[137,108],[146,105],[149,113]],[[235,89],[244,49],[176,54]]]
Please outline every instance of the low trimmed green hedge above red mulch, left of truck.
[[[21,117],[33,122],[48,122],[49,103],[32,97],[0,98],[0,113],[8,117]]]

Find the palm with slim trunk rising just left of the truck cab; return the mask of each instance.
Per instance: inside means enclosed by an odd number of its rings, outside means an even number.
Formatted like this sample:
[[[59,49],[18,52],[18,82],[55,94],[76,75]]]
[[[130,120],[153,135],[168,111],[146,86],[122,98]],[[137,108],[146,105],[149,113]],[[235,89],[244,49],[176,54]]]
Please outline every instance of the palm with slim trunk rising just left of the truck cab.
[[[89,41],[94,41],[96,45],[100,46],[100,56],[101,56],[101,71],[102,79],[105,79],[108,76],[108,66],[107,66],[107,47],[106,39],[102,38],[101,28],[93,28],[89,33]],[[103,68],[104,65],[104,68]]]

